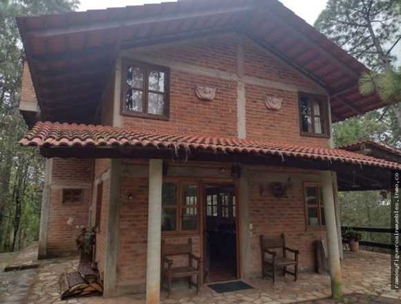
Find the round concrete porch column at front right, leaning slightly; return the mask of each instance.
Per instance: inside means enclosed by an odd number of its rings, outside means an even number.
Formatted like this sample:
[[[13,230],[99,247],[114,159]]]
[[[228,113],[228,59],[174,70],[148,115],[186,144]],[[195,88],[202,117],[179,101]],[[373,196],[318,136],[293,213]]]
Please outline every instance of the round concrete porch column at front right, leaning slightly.
[[[333,194],[333,177],[330,171],[321,171],[321,190],[323,192],[324,216],[326,218],[328,259],[331,276],[331,293],[333,298],[342,298],[342,269],[339,260],[337,222]]]

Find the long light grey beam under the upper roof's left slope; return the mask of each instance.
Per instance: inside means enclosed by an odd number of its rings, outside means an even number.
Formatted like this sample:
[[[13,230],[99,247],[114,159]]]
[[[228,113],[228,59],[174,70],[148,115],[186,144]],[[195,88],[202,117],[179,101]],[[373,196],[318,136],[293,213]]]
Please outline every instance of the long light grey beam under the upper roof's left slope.
[[[169,14],[156,17],[147,17],[143,19],[132,19],[132,20],[122,20],[122,21],[108,21],[108,22],[98,22],[98,23],[86,23],[72,25],[64,28],[45,28],[43,30],[32,30],[26,33],[28,38],[47,38],[47,37],[57,37],[62,35],[70,35],[81,32],[94,32],[97,30],[109,30],[113,28],[120,28],[121,26],[142,26],[144,24],[162,23],[167,21],[180,21],[185,19],[199,18],[199,17],[209,17],[213,15],[225,15],[232,14],[235,12],[245,12],[247,10],[253,9],[254,6],[243,5],[234,6],[230,8],[218,8],[212,10],[204,10],[197,12],[182,12],[180,14]]]

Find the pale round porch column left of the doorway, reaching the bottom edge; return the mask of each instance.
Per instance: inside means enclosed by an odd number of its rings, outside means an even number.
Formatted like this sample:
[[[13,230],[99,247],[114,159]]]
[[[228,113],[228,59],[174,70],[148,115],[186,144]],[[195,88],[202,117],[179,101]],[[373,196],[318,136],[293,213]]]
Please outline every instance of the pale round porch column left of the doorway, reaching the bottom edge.
[[[162,160],[149,161],[146,303],[160,303],[160,247],[162,240]]]

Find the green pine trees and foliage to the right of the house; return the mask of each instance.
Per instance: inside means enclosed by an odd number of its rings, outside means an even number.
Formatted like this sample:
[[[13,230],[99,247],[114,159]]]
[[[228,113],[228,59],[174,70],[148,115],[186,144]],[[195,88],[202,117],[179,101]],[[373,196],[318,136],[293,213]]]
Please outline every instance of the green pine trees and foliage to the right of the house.
[[[366,82],[366,78],[362,78],[361,82],[365,82],[365,92],[362,93],[380,91],[378,93],[384,102],[393,104],[334,124],[336,146],[374,140],[401,147],[401,105],[395,100],[400,84],[394,82],[399,75],[389,77],[396,73],[391,50],[401,39],[400,16],[400,0],[328,0],[326,9],[315,22],[318,30],[376,70],[373,76],[380,75],[380,90],[375,87],[377,82]],[[389,200],[382,198],[379,191],[339,193],[339,200],[342,225],[390,227]],[[386,234],[364,233],[362,238],[379,243],[390,242]]]

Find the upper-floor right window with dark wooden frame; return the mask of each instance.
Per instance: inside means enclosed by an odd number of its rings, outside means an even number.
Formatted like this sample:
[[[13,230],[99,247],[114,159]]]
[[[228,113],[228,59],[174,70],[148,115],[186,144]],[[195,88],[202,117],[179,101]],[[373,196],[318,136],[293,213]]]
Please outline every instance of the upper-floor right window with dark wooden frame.
[[[328,136],[326,99],[317,95],[299,95],[301,134]]]

